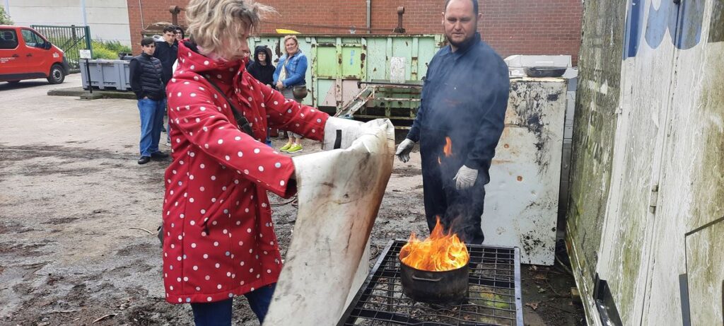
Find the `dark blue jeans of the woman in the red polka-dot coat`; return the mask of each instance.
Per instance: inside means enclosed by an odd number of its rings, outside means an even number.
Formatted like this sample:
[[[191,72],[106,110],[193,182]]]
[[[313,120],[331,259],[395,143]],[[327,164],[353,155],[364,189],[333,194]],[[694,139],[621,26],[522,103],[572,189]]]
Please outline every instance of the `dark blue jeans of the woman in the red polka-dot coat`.
[[[277,283],[263,286],[244,295],[249,301],[251,311],[259,319],[259,324],[264,323],[264,317],[266,317],[266,311],[269,310],[275,288],[277,288]],[[210,304],[191,304],[193,322],[196,326],[230,326],[233,302],[234,299],[230,298]]]

